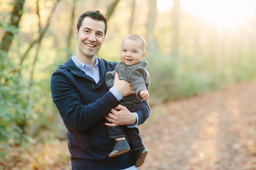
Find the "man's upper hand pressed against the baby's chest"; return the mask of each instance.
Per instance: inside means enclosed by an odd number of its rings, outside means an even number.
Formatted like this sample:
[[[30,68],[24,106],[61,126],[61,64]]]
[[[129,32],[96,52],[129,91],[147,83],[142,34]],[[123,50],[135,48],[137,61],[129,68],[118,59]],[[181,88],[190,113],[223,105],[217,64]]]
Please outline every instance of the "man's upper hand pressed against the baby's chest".
[[[131,86],[130,83],[128,83],[125,80],[119,80],[119,75],[118,75],[117,72],[115,73],[115,80],[114,80],[114,85],[113,86],[119,91],[119,93],[123,97],[135,93],[135,91],[132,89],[132,86]]]

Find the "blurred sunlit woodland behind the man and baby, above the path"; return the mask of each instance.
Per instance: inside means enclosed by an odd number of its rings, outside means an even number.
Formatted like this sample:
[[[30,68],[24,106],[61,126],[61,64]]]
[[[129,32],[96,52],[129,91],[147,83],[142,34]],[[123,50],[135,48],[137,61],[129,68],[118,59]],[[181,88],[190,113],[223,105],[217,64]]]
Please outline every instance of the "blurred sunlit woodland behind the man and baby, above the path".
[[[50,79],[76,51],[76,21],[88,10],[109,17],[100,58],[119,62],[126,35],[145,38],[152,108],[256,79],[255,0],[0,0],[3,168],[47,169],[44,152],[33,154],[41,162],[17,155],[67,141]]]

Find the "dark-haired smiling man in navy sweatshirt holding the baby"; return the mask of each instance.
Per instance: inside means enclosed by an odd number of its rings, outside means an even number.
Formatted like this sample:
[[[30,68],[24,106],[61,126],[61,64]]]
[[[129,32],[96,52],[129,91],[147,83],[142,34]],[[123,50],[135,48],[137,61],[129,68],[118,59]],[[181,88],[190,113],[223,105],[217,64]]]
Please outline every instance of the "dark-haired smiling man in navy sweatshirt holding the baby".
[[[122,105],[113,109],[123,97],[135,92],[130,83],[115,76],[108,90],[105,74],[113,71],[116,62],[96,56],[107,31],[108,20],[99,11],[82,14],[75,28],[76,53],[53,73],[53,101],[68,129],[68,148],[72,170],[76,169],[137,169],[132,152],[109,158],[115,141],[109,139],[107,126],[134,127],[150,116],[146,101],[139,111],[130,113]],[[127,139],[129,144],[130,140]]]

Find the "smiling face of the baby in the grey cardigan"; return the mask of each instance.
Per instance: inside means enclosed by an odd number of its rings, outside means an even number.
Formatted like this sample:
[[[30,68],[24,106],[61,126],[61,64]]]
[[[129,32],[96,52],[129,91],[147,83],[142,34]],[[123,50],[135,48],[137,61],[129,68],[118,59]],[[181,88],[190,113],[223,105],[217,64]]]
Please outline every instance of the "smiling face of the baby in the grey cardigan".
[[[131,66],[138,64],[144,59],[146,52],[144,52],[142,44],[139,40],[132,40],[125,38],[120,51],[121,61],[127,65]]]

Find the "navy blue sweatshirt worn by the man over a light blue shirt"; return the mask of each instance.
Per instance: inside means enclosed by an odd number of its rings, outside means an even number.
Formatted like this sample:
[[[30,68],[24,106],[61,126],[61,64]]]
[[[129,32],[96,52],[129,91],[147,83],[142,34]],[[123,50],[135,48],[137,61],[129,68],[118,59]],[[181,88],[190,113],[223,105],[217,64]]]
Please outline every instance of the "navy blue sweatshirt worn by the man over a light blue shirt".
[[[118,102],[105,85],[105,75],[117,62],[98,58],[100,80],[95,81],[79,69],[72,58],[53,73],[51,90],[53,102],[68,129],[68,148],[72,169],[120,170],[135,165],[130,152],[109,158],[115,141],[109,139],[106,115]],[[138,124],[150,116],[150,107],[143,100]],[[127,139],[128,142],[129,138]]]

